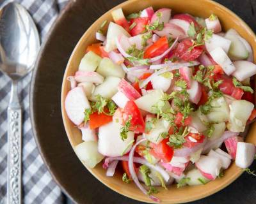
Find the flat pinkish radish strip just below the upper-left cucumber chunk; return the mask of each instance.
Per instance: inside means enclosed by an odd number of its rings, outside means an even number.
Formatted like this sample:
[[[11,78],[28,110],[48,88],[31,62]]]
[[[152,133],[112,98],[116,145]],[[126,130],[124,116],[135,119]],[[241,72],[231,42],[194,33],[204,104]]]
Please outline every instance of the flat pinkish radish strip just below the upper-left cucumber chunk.
[[[104,77],[95,71],[77,71],[75,75],[77,82],[92,82],[94,84],[102,84]]]

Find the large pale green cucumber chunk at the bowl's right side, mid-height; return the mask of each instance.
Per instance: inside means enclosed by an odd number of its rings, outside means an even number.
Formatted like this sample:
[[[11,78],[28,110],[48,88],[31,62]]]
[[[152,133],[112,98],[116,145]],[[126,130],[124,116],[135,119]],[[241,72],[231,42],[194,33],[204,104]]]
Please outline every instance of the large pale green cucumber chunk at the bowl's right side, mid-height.
[[[253,103],[246,100],[235,100],[229,105],[230,115],[227,128],[233,132],[243,132],[246,122],[254,108]]]

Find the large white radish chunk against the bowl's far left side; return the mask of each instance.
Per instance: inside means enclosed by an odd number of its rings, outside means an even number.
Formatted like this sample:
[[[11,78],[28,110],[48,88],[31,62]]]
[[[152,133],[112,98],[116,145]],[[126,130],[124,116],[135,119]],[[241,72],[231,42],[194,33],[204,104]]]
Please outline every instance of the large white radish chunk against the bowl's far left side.
[[[84,110],[90,108],[83,87],[76,87],[68,92],[65,99],[65,110],[68,118],[77,126],[84,121]]]

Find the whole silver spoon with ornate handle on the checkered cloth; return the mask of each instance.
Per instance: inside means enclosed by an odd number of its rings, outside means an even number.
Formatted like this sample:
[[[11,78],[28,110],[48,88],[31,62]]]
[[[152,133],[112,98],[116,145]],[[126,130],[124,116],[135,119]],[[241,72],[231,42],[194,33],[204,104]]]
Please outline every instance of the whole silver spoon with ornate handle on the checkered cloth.
[[[18,81],[33,69],[40,40],[28,11],[9,3],[0,11],[0,70],[12,79],[8,106],[8,204],[21,201],[22,111]]]

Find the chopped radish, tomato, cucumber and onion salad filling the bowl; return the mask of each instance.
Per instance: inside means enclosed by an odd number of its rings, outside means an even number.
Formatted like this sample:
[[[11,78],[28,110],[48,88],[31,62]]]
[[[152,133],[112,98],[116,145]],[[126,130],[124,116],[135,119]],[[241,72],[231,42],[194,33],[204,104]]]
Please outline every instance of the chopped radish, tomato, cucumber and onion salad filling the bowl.
[[[252,47],[234,29],[223,33],[214,14],[171,11],[113,11],[68,77],[65,99],[83,135],[81,161],[103,160],[108,177],[120,162],[122,180],[154,201],[154,186],[206,184],[232,160],[246,169],[255,157],[239,136],[256,117]]]

